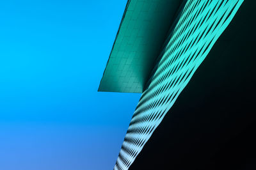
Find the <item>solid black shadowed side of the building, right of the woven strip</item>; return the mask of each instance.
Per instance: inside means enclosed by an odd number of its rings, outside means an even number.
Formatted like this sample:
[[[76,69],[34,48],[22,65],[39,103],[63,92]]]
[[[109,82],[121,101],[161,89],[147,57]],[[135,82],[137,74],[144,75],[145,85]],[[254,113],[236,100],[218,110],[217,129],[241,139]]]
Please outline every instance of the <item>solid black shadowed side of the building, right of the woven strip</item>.
[[[244,1],[130,169],[256,169],[255,6]]]

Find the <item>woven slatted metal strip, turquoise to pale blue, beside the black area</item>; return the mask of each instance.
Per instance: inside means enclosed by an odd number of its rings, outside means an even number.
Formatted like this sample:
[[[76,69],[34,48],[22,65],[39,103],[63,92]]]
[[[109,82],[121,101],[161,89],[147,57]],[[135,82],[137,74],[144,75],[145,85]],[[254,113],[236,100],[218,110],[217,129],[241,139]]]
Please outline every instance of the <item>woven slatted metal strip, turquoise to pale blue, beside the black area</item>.
[[[242,3],[186,2],[134,111],[114,169],[131,166]]]

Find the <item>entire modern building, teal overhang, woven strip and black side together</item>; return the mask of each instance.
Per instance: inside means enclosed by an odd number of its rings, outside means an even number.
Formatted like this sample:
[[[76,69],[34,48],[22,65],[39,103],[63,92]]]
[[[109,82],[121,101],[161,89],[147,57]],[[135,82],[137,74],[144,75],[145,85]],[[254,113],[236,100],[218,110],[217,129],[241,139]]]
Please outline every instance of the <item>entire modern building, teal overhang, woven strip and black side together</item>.
[[[127,1],[99,91],[142,94],[114,169],[256,163],[255,5]]]

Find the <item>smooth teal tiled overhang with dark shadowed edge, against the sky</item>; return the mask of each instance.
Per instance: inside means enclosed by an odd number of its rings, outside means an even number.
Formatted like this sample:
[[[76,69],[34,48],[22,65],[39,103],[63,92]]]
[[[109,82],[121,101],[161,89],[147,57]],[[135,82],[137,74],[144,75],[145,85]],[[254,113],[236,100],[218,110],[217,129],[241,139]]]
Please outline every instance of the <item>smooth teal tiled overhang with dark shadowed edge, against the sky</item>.
[[[127,2],[99,91],[142,93],[181,2]]]

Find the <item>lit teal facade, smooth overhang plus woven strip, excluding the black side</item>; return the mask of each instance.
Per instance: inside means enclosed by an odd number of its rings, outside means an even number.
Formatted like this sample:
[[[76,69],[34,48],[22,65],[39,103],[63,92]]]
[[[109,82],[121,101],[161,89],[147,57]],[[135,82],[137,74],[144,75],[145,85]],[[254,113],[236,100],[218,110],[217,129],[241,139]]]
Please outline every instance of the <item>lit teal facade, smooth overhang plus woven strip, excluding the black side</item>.
[[[114,169],[129,169],[244,1],[127,2],[99,91],[142,94]]]

